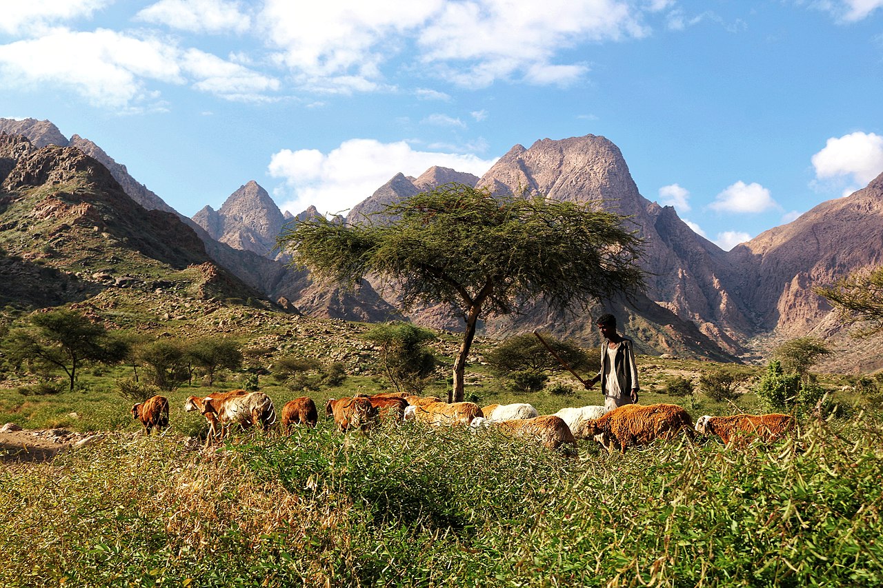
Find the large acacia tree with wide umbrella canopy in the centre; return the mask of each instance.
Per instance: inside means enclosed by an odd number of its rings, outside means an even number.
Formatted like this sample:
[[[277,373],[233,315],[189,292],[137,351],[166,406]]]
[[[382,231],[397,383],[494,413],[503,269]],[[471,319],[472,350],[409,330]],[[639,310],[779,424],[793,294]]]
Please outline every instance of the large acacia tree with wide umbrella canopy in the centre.
[[[641,239],[624,228],[623,216],[597,204],[447,184],[385,207],[382,223],[298,222],[278,245],[321,280],[354,287],[375,275],[396,289],[405,309],[456,307],[464,335],[449,399],[461,401],[482,313],[512,313],[540,298],[557,310],[586,307],[643,287]]]

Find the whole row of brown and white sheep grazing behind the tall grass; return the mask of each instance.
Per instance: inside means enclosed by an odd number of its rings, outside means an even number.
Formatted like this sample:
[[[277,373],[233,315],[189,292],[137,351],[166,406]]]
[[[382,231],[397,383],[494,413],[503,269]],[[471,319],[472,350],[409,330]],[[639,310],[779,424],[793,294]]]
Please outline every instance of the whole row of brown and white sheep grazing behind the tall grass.
[[[232,390],[205,397],[190,396],[185,411],[199,411],[208,422],[207,442],[230,433],[231,427],[259,427],[267,430],[277,422],[275,407],[263,392]],[[674,439],[679,434],[693,438],[696,433],[717,435],[725,444],[740,437],[772,442],[794,430],[794,417],[786,414],[725,417],[702,416],[695,425],[682,407],[675,404],[626,404],[606,412],[603,406],[564,408],[540,416],[528,403],[490,404],[446,403],[436,396],[410,396],[381,393],[331,398],[325,414],[334,418],[340,431],[365,430],[380,419],[411,420],[426,426],[468,426],[472,430],[494,427],[501,433],[539,441],[549,449],[564,449],[576,455],[577,439],[593,439],[609,451],[625,451],[647,445],[656,439]],[[132,406],[132,418],[140,420],[147,434],[153,428],[169,426],[169,401],[153,396]],[[291,426],[316,426],[319,414],[307,396],[285,403],[281,424],[285,433]]]

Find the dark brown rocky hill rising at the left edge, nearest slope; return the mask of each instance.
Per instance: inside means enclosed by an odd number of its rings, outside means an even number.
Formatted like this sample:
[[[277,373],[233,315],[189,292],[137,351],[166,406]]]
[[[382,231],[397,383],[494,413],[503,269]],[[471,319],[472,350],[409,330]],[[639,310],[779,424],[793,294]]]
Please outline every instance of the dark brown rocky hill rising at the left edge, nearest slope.
[[[260,298],[218,268],[177,215],[141,207],[78,148],[0,134],[0,161],[0,302],[63,304],[108,288]]]

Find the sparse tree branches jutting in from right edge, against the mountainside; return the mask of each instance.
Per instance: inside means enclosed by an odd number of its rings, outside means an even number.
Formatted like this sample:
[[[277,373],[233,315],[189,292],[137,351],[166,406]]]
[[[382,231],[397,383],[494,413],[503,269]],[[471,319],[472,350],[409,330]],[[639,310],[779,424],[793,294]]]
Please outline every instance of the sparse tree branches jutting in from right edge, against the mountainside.
[[[827,298],[846,322],[868,322],[857,334],[870,336],[883,331],[883,267],[870,272],[856,272],[830,288],[814,288]]]

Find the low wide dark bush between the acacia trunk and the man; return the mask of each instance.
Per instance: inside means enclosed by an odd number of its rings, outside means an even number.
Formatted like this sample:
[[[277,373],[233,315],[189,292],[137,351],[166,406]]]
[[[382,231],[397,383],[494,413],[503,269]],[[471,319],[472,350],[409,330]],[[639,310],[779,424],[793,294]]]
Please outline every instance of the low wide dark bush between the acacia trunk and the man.
[[[575,371],[597,372],[600,362],[594,363],[577,343],[561,340],[551,335],[543,335],[549,347],[566,361]],[[594,357],[594,356],[592,356]],[[500,343],[493,351],[485,354],[485,360],[496,375],[506,375],[520,370],[550,370],[561,372],[565,368],[550,353],[536,336],[527,333],[514,335]]]

